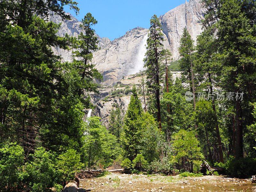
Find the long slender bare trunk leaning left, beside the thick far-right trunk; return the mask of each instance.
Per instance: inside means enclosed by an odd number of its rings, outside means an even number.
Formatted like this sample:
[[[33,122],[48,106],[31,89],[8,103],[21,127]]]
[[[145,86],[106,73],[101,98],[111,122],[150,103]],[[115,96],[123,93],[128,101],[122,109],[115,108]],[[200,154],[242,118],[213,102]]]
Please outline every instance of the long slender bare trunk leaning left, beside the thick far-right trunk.
[[[210,91],[211,91],[211,94],[212,94],[213,93],[213,91],[212,91],[212,79],[211,79],[211,74],[210,73],[208,73],[208,78],[209,78],[209,83],[210,83]],[[220,139],[220,130],[219,130],[219,124],[218,124],[218,119],[217,119],[214,97],[212,98],[212,109],[214,111],[214,121],[215,121],[216,136],[217,136],[217,141],[218,141],[220,162],[224,163],[223,150],[222,150],[222,144],[221,144],[221,139]]]

